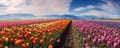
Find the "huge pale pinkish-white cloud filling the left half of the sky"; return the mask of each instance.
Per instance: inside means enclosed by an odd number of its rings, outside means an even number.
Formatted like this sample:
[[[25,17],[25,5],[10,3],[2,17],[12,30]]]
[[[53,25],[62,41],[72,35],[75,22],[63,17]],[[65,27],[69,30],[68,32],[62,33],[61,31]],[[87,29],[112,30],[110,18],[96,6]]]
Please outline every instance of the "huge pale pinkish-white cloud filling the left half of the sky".
[[[7,9],[1,14],[27,13],[36,16],[68,13],[72,0],[0,0]]]

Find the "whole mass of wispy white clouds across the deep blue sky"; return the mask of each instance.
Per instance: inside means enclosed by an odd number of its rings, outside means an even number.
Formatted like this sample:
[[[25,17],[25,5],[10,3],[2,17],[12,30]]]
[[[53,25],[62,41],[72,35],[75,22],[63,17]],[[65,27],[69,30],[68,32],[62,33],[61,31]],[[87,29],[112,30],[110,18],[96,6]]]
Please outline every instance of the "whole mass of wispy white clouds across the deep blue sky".
[[[111,0],[103,0],[103,2],[105,2],[105,4],[99,4],[97,6],[87,5],[85,7],[76,8],[74,9],[74,12],[87,10],[86,12],[79,13],[79,16],[93,15],[99,17],[120,18],[120,9],[118,9],[118,4],[115,4],[115,2],[112,2]]]

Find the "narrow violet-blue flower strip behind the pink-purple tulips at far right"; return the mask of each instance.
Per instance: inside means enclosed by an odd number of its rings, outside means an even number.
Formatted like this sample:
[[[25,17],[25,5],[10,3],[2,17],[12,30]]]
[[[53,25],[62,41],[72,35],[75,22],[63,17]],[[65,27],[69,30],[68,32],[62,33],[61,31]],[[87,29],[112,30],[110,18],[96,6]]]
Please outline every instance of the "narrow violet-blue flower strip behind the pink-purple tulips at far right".
[[[90,22],[120,29],[120,22],[110,22],[110,21],[90,21]]]

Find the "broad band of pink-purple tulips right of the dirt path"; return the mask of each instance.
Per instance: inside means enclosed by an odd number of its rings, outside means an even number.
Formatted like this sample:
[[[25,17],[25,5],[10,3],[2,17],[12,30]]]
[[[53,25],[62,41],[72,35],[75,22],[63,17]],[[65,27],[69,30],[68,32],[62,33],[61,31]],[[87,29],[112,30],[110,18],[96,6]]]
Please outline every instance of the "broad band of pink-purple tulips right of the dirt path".
[[[95,23],[73,20],[78,29],[80,47],[84,48],[120,48],[120,30]]]

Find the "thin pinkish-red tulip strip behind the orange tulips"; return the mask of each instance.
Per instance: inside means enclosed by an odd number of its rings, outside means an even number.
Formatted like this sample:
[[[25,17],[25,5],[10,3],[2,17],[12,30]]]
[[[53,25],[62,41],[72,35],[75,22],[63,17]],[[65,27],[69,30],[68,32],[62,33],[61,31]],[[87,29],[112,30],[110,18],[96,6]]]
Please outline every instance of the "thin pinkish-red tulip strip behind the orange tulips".
[[[26,21],[0,22],[0,28],[4,26],[25,25],[25,24],[43,23],[50,21],[55,21],[55,20],[26,20]]]

